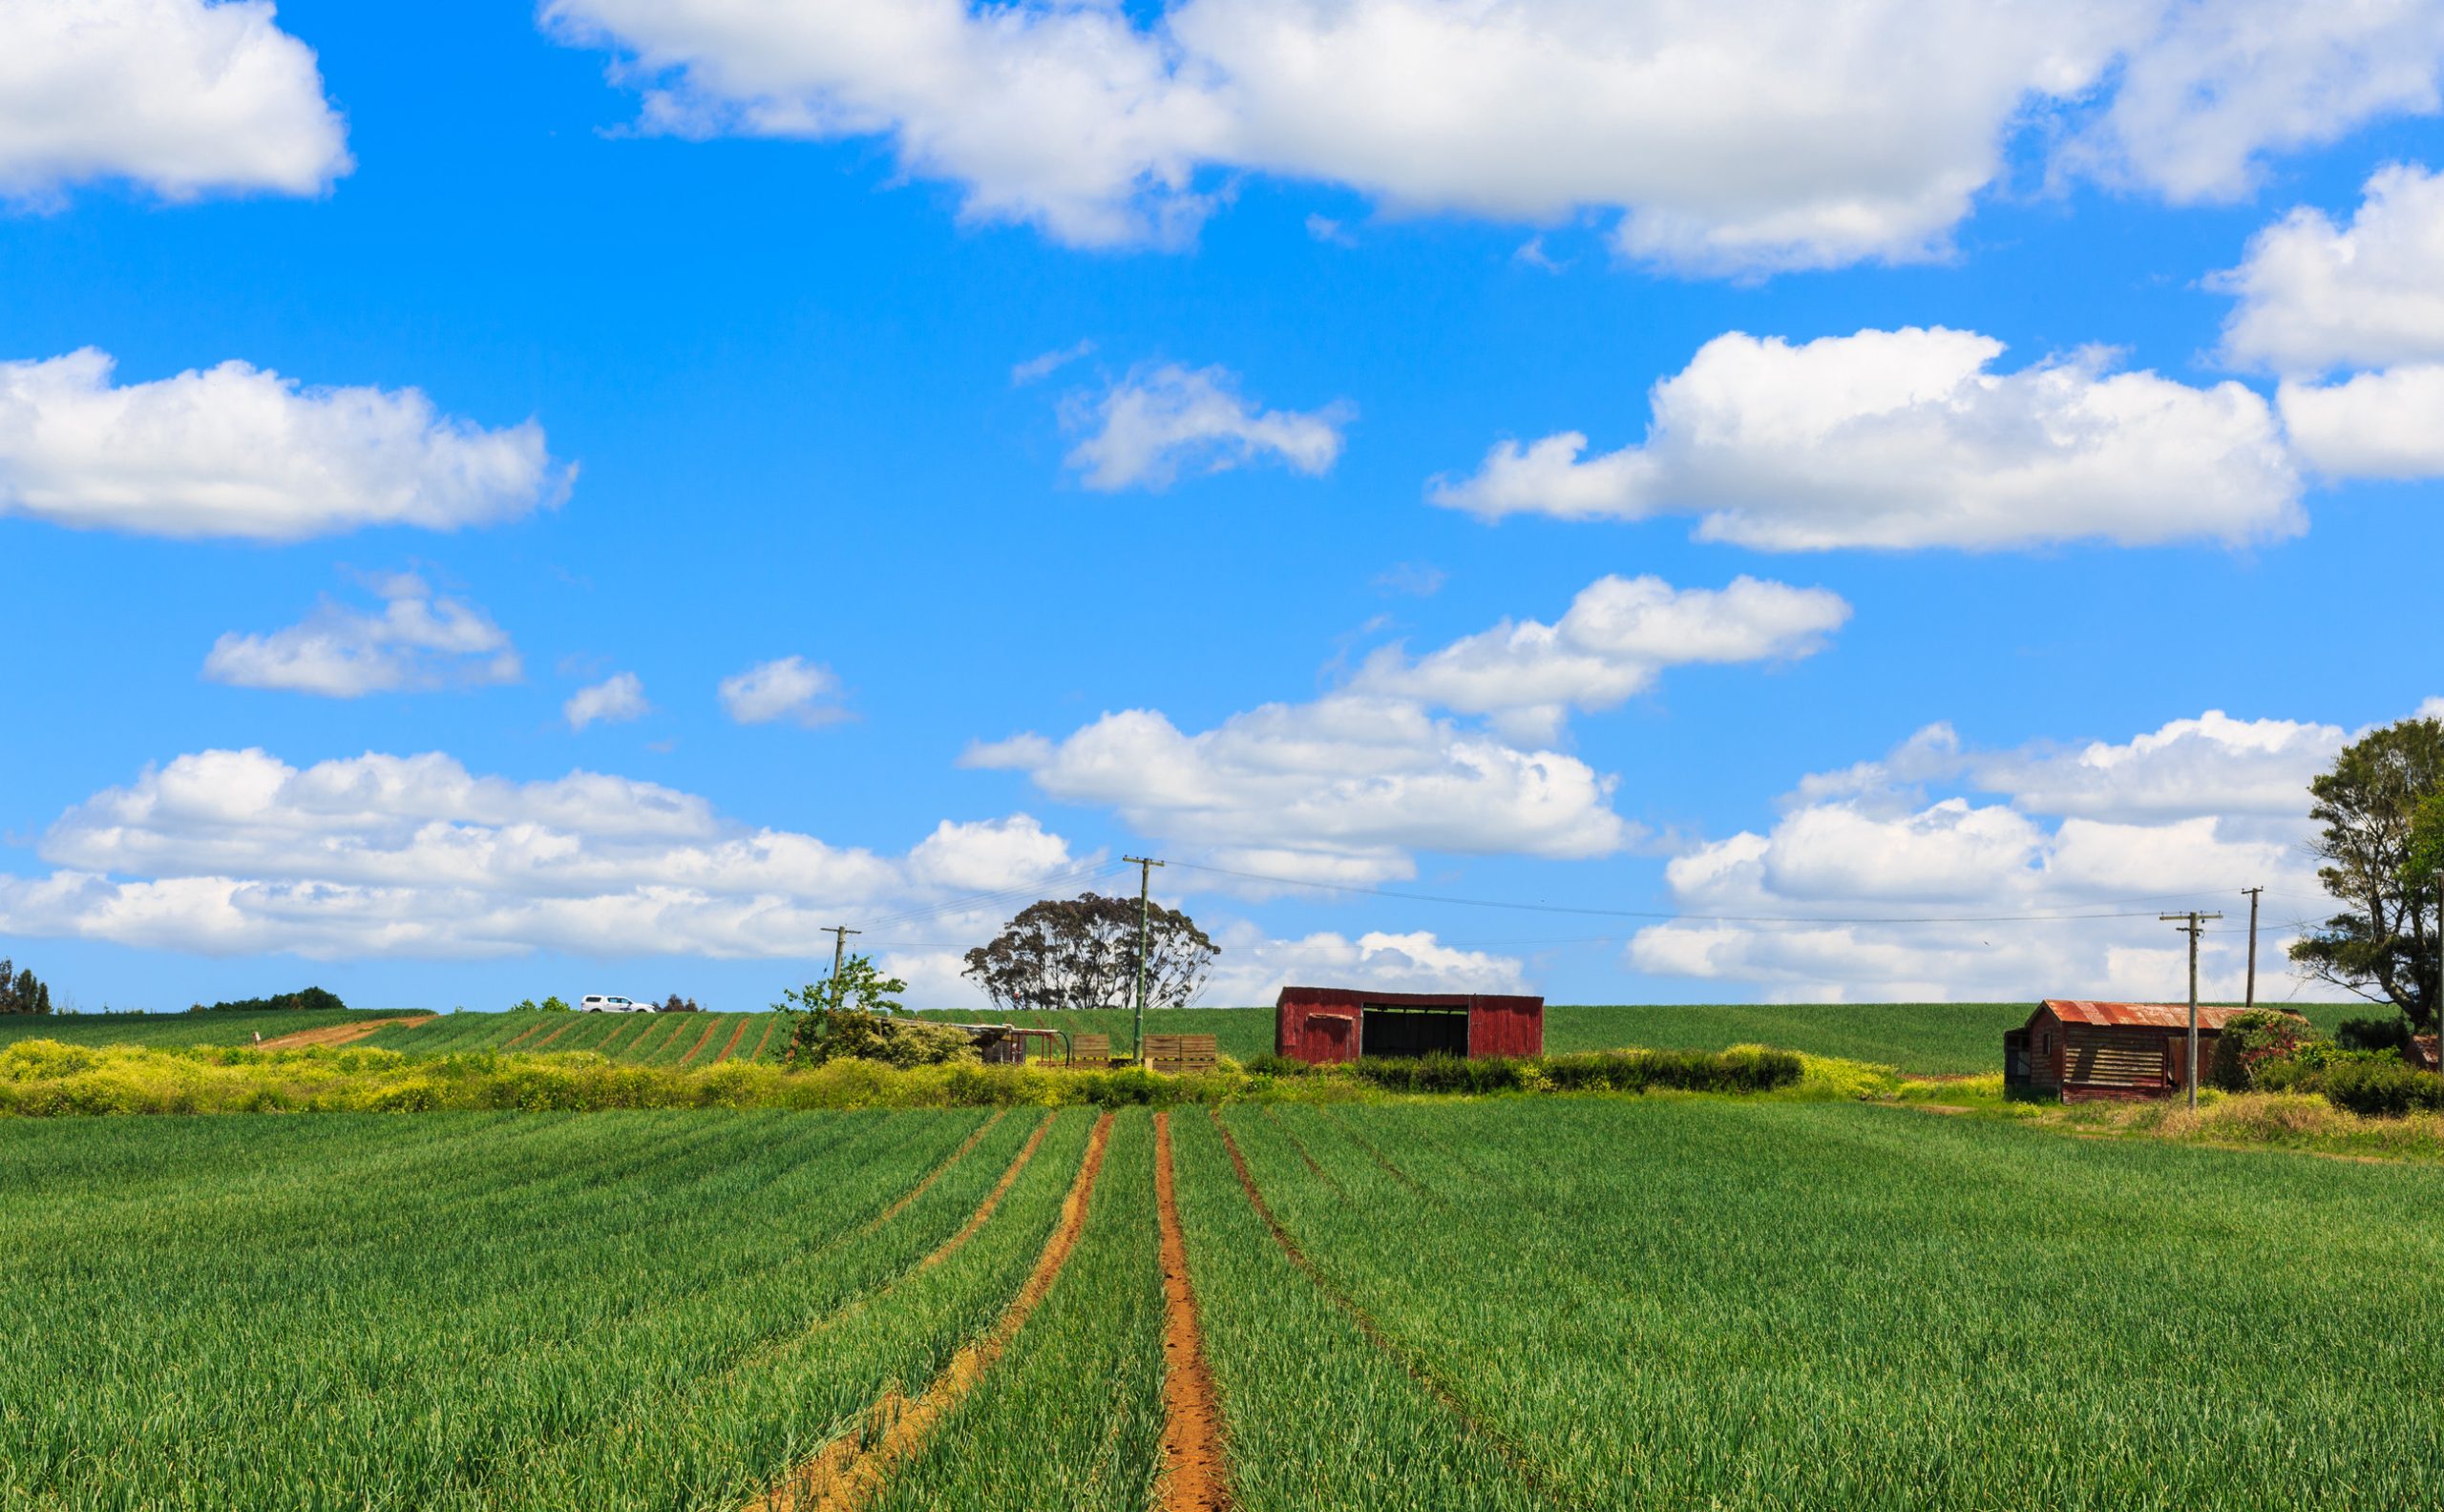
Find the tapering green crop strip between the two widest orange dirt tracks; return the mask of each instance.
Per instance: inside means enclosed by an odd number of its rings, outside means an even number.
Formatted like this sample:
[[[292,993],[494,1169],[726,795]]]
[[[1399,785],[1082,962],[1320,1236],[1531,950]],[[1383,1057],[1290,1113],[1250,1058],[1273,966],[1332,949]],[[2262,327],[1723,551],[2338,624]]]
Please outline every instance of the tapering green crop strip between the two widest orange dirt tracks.
[[[1105,1146],[1085,1234],[1000,1365],[875,1512],[1146,1512],[1163,1431],[1163,1290],[1144,1111]]]

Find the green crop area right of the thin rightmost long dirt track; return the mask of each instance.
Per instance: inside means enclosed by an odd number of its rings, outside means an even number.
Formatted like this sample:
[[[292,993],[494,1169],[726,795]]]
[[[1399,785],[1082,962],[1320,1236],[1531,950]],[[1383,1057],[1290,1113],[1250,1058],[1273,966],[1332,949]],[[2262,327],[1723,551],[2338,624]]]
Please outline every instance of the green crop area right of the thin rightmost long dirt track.
[[[2368,1278],[2444,1260],[2437,1172],[1848,1104],[1435,1109],[1547,1192],[1523,1207],[1413,1141],[1410,1111],[1334,1116],[1476,1194],[1435,1221],[1354,1153],[1334,1202],[1290,1190],[1286,1150],[1249,1158],[1386,1331],[1601,1505],[2378,1507],[2444,1485],[2444,1434],[2407,1407],[2444,1351],[2346,1321]]]

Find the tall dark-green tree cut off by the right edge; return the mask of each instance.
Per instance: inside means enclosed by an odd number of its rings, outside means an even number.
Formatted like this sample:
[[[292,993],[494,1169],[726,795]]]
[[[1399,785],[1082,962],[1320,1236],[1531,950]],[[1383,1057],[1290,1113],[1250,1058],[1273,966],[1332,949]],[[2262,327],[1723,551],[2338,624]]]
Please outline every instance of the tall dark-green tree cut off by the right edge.
[[[2361,735],[2310,784],[2317,879],[2344,911],[2292,943],[2319,982],[2437,1021],[2437,867],[2444,865],[2444,723],[2405,718]]]

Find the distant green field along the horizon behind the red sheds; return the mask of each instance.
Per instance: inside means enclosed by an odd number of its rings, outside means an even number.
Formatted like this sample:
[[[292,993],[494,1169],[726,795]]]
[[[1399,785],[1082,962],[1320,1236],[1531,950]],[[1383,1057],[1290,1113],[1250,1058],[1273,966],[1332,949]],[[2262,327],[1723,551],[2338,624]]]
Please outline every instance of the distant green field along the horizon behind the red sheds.
[[[1911,1075],[1975,1075],[2002,1067],[2002,1033],[2019,1028],[2033,1004],[1630,1004],[1545,1009],[1545,1048],[1615,1050],[1728,1050],[1774,1045],[1809,1055],[1838,1055],[1897,1065]],[[2300,1004],[2332,1031],[2341,1019],[2371,1014],[2358,1004]],[[266,1038],[320,1028],[345,1019],[386,1016],[406,1009],[359,1014],[112,1014],[0,1019],[0,1043],[15,1038],[64,1038],[71,1043],[242,1045],[252,1031]],[[926,1011],[926,1019],[963,1023],[1029,1023],[1073,1033],[1110,1036],[1127,1053],[1132,1016],[1088,1009],[1073,1014],[990,1014],[973,1009]],[[364,1043],[435,1055],[447,1050],[599,1050],[611,1060],[643,1065],[711,1065],[777,1060],[782,1036],[770,1033],[772,1014],[442,1014],[420,1026],[389,1026]],[[711,1026],[711,1031],[706,1031]],[[741,1028],[743,1026],[743,1028]],[[699,1038],[711,1033],[709,1043]],[[738,1036],[736,1041],[731,1036]],[[1146,1033],[1210,1033],[1224,1055],[1251,1060],[1273,1048],[1273,1009],[1158,1009],[1146,1014]],[[763,1055],[755,1055],[758,1048]]]

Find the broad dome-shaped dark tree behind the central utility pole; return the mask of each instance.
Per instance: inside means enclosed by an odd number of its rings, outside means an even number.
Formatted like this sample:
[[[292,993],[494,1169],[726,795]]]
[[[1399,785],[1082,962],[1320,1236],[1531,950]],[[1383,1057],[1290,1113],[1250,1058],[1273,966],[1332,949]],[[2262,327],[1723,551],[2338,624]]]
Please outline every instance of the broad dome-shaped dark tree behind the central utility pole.
[[[1161,904],[1146,909],[1146,1004],[1183,1009],[1205,989],[1222,948]],[[992,1006],[1127,1009],[1136,1001],[1136,899],[1080,894],[1029,904],[960,970]]]

